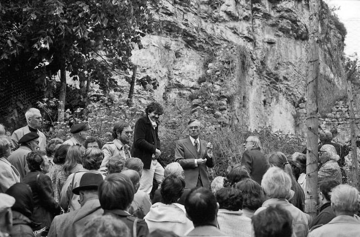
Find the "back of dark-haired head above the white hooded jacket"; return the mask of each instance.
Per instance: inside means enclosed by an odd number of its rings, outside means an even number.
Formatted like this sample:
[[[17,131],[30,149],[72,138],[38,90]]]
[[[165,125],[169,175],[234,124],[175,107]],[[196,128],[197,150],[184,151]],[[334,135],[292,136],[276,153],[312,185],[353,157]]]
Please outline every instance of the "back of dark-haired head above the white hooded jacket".
[[[176,202],[183,195],[185,180],[175,175],[167,176],[161,183],[160,194],[164,204]]]

